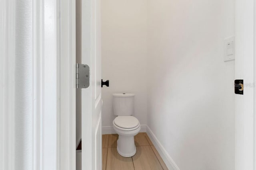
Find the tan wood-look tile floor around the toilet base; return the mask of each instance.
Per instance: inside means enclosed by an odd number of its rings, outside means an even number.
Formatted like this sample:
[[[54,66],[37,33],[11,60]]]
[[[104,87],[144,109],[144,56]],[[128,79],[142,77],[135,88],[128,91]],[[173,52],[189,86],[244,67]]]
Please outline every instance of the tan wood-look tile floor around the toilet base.
[[[102,135],[102,170],[168,170],[146,133],[134,137],[136,154],[125,158],[118,154],[117,134]]]

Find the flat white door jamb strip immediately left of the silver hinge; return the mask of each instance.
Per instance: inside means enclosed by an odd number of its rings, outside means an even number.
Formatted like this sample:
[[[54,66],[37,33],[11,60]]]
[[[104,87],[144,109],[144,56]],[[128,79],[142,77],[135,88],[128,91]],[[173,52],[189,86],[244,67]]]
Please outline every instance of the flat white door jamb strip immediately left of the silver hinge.
[[[76,1],[58,0],[60,54],[59,170],[76,169]]]

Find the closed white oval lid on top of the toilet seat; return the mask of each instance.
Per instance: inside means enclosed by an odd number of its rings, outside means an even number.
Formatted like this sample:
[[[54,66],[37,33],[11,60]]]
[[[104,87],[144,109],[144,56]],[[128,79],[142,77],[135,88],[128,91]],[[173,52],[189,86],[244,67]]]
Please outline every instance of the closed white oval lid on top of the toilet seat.
[[[136,117],[133,116],[118,116],[114,119],[114,123],[118,127],[130,129],[138,126],[139,121]]]

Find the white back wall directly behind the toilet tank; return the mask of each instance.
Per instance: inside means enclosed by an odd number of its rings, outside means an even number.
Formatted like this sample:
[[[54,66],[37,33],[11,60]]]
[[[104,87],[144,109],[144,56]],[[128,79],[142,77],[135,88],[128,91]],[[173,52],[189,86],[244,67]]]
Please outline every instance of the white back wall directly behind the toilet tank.
[[[135,96],[135,116],[146,124],[146,0],[102,1],[102,126],[112,126],[112,94]]]

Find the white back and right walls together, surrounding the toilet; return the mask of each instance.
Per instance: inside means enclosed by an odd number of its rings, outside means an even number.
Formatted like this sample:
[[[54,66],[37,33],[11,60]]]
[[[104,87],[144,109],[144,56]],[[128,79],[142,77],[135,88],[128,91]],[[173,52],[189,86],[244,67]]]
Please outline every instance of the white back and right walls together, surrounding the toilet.
[[[181,170],[234,170],[234,28],[234,0],[102,1],[103,126],[111,94],[134,92],[135,116]]]

